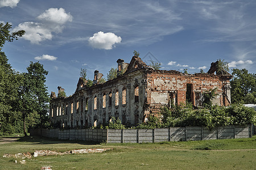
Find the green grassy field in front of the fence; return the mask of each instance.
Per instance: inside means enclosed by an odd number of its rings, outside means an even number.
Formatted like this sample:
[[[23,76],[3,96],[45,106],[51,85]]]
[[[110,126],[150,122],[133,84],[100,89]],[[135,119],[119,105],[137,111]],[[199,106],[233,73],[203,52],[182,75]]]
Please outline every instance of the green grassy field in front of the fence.
[[[15,163],[15,160],[19,162],[22,159],[2,158],[6,153],[68,151],[79,148],[111,150],[97,154],[38,156],[25,159],[26,164]],[[0,169],[40,169],[43,166],[50,166],[52,169],[256,169],[256,137],[106,145],[19,137],[15,142],[1,141],[0,156]]]

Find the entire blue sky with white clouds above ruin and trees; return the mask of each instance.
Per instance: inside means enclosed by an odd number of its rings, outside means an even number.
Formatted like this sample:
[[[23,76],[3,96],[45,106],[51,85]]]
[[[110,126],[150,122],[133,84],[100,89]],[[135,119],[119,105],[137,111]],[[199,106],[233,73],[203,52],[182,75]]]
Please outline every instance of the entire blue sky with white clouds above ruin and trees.
[[[3,51],[16,71],[30,61],[49,71],[48,91],[76,90],[81,68],[106,77],[117,59],[130,62],[133,50],[162,63],[164,70],[209,70],[217,59],[255,73],[256,1],[64,1],[0,0],[0,22],[18,41]]]

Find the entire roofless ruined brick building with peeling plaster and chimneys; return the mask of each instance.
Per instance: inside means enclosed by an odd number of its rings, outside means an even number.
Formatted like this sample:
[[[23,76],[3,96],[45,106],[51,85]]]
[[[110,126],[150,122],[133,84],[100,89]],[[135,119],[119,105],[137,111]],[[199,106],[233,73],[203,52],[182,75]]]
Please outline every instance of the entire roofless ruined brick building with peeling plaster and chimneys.
[[[92,87],[86,87],[87,81],[80,78],[72,96],[60,97],[64,91],[61,87],[58,87],[57,97],[52,92],[51,121],[65,128],[84,128],[106,124],[112,117],[119,117],[124,125],[137,125],[147,121],[149,114],[159,113],[163,105],[171,107],[188,100],[195,107],[201,107],[203,92],[214,88],[218,96],[213,104],[230,104],[232,75],[226,71],[216,73],[217,62],[204,74],[154,70],[136,56],[130,63],[123,59],[118,59],[117,63],[117,78],[100,84],[102,74],[96,70]]]

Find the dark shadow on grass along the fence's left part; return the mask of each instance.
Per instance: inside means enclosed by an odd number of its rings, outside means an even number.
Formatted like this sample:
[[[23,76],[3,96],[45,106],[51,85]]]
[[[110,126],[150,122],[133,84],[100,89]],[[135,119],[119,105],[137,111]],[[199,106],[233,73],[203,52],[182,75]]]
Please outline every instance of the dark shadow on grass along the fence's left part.
[[[48,144],[58,144],[58,143],[77,143],[80,145],[99,145],[100,142],[88,142],[88,141],[69,141],[69,140],[60,140],[58,138],[47,138],[40,136],[28,136],[20,137],[18,142],[31,142],[28,145],[48,145]]]

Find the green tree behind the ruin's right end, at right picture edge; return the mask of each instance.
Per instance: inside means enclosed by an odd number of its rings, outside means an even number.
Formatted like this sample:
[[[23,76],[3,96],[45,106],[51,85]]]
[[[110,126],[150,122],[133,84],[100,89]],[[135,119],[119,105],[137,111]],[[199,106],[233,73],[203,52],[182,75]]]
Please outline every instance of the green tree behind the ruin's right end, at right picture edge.
[[[256,75],[253,73],[248,73],[246,69],[232,69],[233,78],[230,80],[231,85],[231,100],[232,103],[248,103],[249,101],[255,101],[255,92],[256,92]],[[250,99],[253,97],[247,94],[253,94],[254,99]]]

